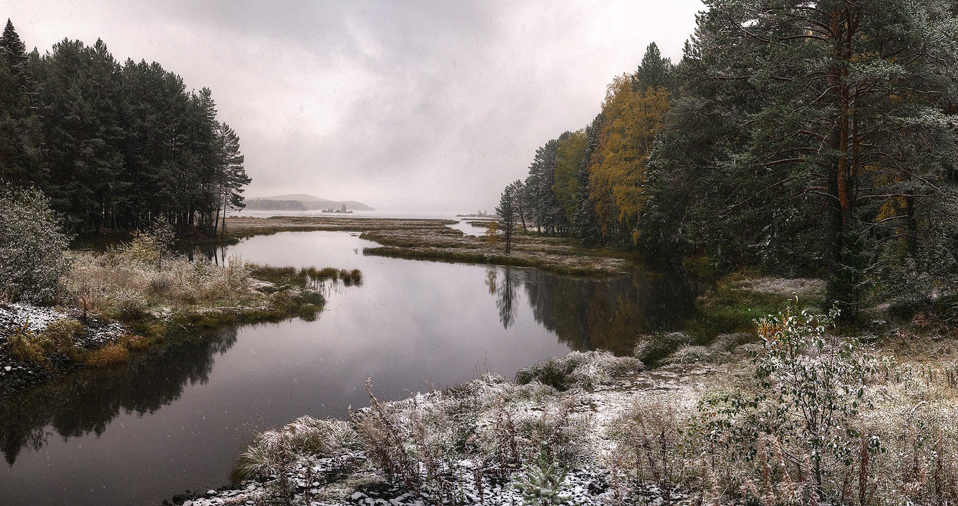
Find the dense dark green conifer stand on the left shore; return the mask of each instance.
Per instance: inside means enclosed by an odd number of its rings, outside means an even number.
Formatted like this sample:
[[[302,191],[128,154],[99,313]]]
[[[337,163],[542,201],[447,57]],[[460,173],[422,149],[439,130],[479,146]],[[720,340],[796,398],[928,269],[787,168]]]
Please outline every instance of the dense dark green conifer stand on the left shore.
[[[239,137],[208,88],[187,91],[159,63],[118,63],[97,40],[26,46],[0,38],[0,182],[41,188],[75,230],[155,218],[217,231],[250,179]]]

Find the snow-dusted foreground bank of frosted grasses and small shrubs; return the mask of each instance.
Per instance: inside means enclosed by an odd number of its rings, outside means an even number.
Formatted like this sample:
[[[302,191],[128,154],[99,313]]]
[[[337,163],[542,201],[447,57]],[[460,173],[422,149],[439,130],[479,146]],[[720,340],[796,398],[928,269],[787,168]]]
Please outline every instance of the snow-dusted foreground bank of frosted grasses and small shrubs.
[[[793,309],[651,369],[573,352],[514,381],[392,403],[368,385],[370,407],[349,420],[256,434],[240,481],[192,504],[810,505],[857,503],[860,490],[864,504],[904,504],[958,492],[947,336],[917,321],[864,345],[827,320]],[[780,360],[792,352],[797,362]]]

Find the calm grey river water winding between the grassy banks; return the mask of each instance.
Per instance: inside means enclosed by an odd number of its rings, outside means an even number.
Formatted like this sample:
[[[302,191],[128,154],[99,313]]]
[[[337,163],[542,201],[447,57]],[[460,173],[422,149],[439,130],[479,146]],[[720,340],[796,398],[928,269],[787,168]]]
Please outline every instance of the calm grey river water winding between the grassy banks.
[[[0,402],[0,504],[157,504],[227,483],[262,420],[344,417],[376,396],[468,381],[570,350],[627,352],[678,326],[691,295],[668,276],[590,279],[534,269],[365,256],[344,232],[248,239],[227,256],[360,269],[315,321],[222,329]]]

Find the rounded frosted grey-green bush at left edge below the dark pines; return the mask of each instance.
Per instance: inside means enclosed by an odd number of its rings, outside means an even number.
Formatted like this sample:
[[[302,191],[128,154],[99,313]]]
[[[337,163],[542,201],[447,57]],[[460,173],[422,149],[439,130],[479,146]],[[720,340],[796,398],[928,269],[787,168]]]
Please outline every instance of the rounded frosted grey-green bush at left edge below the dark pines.
[[[70,269],[61,217],[38,189],[0,187],[0,300],[57,297]]]

